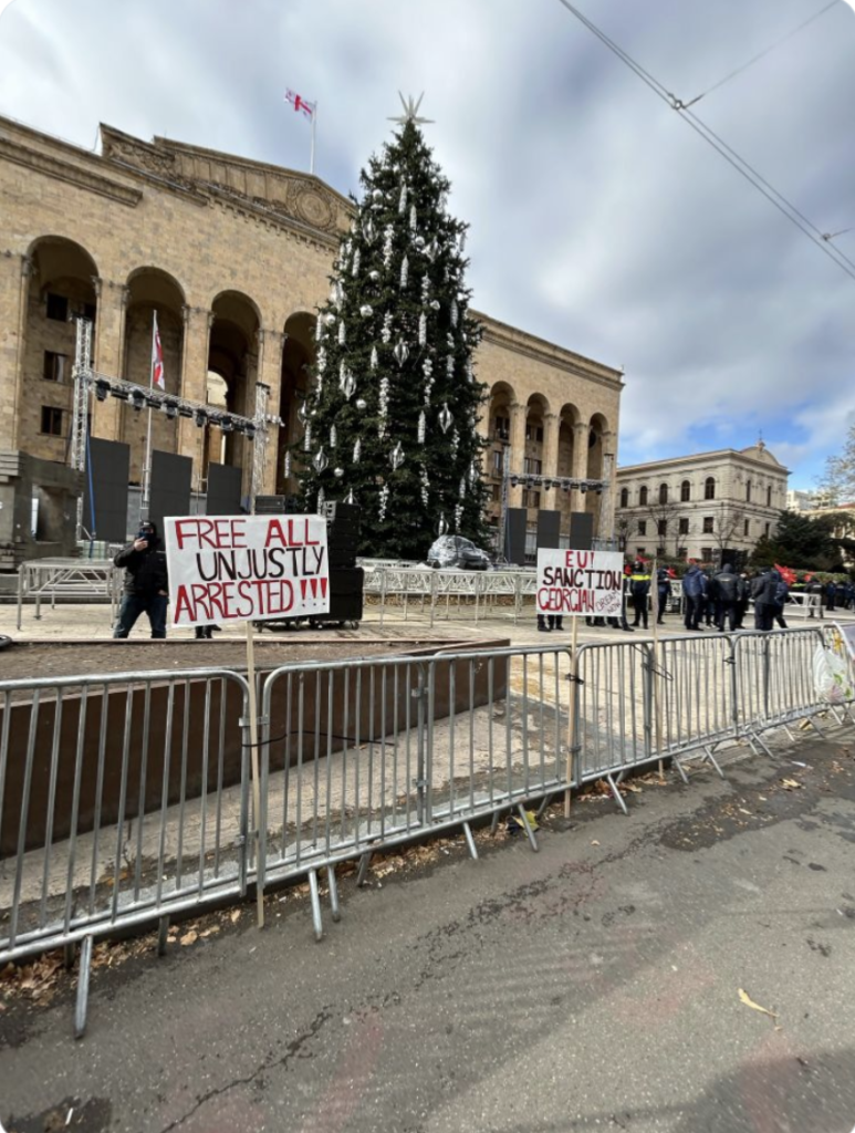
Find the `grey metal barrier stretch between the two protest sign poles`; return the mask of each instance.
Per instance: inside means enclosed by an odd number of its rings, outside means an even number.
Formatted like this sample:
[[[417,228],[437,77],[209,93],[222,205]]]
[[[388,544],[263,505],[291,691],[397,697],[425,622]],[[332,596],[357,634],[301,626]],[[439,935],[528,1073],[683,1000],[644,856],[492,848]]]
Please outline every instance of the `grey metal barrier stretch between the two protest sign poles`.
[[[568,672],[565,649],[511,648],[271,673],[260,884],[563,790]]]

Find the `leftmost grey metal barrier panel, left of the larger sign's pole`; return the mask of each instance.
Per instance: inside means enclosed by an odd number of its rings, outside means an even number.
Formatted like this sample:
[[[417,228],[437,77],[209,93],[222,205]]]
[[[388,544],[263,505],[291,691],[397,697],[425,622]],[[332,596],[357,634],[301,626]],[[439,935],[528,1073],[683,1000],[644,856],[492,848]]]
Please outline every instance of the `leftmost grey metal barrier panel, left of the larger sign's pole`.
[[[246,681],[0,684],[0,964],[246,892]]]

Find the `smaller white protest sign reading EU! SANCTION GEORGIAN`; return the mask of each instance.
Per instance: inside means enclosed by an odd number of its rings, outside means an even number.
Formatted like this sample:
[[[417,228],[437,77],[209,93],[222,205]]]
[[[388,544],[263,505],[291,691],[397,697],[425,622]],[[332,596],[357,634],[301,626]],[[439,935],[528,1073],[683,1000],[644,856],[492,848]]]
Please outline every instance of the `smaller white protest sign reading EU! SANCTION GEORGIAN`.
[[[614,551],[538,550],[537,612],[619,617],[623,555]]]

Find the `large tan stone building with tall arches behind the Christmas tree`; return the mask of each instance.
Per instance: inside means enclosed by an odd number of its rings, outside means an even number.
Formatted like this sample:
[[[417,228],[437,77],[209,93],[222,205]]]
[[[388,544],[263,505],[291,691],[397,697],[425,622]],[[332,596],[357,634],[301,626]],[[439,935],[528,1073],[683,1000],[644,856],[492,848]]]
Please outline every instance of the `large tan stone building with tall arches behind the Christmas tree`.
[[[94,320],[97,372],[147,385],[156,310],[168,392],[251,416],[256,383],[270,387],[284,425],[273,428],[264,491],[292,491],[282,452],[300,433],[316,305],[349,201],[316,177],[199,146],[102,126],[94,154],[2,118],[0,195],[0,455],[67,463],[76,315]],[[503,460],[519,474],[604,476],[623,383],[615,369],[479,317],[477,375],[490,391],[480,427],[493,441],[485,475],[497,521]],[[196,491],[212,459],[242,467],[248,484],[245,436],[152,416],[153,446],[193,458]],[[142,477],[146,419],[114,399],[93,402],[93,435],[130,446],[131,483]],[[0,485],[12,463],[0,462]],[[566,493],[524,491],[512,489],[510,503],[529,505],[532,525],[538,506],[570,510]],[[0,512],[0,546],[27,544],[20,526],[12,533]]]

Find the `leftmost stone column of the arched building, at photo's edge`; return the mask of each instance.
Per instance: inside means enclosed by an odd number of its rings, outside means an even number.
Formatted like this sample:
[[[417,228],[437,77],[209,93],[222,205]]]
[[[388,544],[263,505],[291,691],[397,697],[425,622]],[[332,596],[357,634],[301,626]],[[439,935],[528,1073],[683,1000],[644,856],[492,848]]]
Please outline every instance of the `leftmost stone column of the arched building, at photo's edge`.
[[[24,352],[33,261],[7,252],[0,258],[0,449],[22,443]]]

